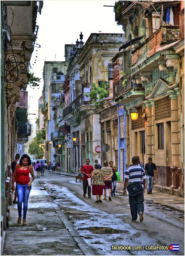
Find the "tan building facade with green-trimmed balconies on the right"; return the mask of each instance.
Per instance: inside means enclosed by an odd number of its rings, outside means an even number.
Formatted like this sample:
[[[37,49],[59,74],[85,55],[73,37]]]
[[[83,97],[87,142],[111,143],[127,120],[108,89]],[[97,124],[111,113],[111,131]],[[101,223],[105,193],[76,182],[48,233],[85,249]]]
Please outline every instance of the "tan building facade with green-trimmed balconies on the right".
[[[170,1],[173,19],[169,21],[165,17],[168,1],[139,1],[139,8],[131,6],[128,11],[125,5],[129,6],[129,1],[119,4],[116,20],[123,26],[128,41],[119,49],[123,49],[122,55],[113,61],[113,95],[116,104],[124,104],[125,109],[126,162],[131,164],[135,155],[145,164],[151,157],[158,169],[155,189],[182,195],[178,98],[183,57],[174,50],[180,39],[181,4]],[[120,58],[121,79],[117,76]],[[129,114],[133,106],[138,111],[137,121],[132,121]]]

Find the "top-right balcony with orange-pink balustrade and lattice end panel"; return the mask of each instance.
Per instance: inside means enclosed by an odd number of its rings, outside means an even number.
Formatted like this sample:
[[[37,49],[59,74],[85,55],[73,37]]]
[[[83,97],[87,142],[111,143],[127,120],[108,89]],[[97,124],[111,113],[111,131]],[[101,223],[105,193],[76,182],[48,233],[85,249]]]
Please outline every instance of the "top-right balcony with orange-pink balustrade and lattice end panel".
[[[179,26],[162,26],[132,52],[132,66],[137,67],[156,53],[156,49],[179,40]]]

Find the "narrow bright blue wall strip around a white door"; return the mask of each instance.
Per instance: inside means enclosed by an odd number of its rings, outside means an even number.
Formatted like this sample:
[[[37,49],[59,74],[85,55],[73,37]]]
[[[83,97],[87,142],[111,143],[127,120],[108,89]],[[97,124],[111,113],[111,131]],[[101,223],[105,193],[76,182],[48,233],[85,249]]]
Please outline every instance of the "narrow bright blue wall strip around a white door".
[[[121,177],[121,181],[123,181],[122,177],[124,177],[126,171],[126,116],[125,109],[123,104],[117,105],[117,113],[118,113],[118,166],[119,166],[119,175]],[[121,138],[121,127],[120,127],[120,116],[124,116],[124,138]],[[123,159],[123,164],[121,166],[121,159]]]

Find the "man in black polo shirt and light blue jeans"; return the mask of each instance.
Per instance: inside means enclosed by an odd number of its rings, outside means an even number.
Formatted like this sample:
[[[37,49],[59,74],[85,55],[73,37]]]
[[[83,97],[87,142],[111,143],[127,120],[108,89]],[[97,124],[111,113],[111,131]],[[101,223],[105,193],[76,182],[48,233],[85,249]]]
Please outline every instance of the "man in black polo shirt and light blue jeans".
[[[148,158],[148,163],[145,164],[145,171],[146,171],[147,193],[152,194],[152,189],[154,185],[154,173],[157,179],[158,179],[158,175],[157,175],[156,165],[152,163],[151,157]]]

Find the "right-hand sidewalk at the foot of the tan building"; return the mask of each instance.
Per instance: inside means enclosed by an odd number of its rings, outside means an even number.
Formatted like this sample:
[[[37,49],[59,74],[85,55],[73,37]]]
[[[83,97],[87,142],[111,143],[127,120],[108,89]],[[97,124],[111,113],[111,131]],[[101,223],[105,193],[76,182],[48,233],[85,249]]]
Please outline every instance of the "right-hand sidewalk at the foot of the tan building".
[[[123,192],[123,183],[117,182],[116,183],[116,190],[118,192]],[[175,196],[175,195],[169,195],[166,193],[158,192],[155,190],[152,190],[152,195],[148,195],[145,192],[145,200],[152,201],[154,203],[166,206],[174,211],[178,211],[181,213],[184,213],[184,198]],[[128,194],[128,192],[127,192]]]

